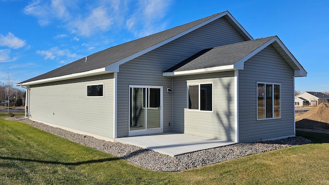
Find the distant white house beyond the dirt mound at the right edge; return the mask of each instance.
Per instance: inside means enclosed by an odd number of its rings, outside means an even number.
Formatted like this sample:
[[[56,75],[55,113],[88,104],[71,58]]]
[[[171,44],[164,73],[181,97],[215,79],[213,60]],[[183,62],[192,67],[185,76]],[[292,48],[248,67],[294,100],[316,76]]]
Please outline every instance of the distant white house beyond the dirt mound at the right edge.
[[[305,91],[295,96],[295,106],[317,106],[320,103],[329,103],[329,96],[320,92]]]

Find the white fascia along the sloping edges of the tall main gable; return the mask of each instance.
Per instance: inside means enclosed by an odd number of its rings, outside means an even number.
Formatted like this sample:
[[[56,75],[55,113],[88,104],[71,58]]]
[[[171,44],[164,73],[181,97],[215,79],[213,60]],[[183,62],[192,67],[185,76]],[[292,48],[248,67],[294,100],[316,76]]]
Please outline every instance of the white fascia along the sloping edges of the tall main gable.
[[[186,30],[184,32],[181,32],[181,33],[179,33],[177,35],[174,35],[173,37],[171,37],[171,38],[169,38],[169,39],[167,39],[165,41],[162,41],[162,42],[160,42],[158,44],[155,44],[155,45],[153,45],[153,46],[151,46],[151,47],[149,47],[147,49],[144,49],[144,50],[139,51],[139,52],[137,52],[135,54],[132,54],[129,57],[124,58],[124,59],[122,59],[122,60],[120,60],[120,61],[118,61],[118,62],[116,62],[114,64],[111,64],[111,65],[105,67],[105,68],[106,68],[106,70],[110,70],[110,71],[114,71],[114,72],[119,72],[119,66],[121,64],[124,64],[124,63],[126,63],[128,61],[131,61],[131,60],[139,57],[142,54],[145,54],[147,52],[150,52],[150,51],[152,51],[152,50],[154,50],[154,49],[156,49],[156,48],[158,48],[160,46],[163,46],[163,45],[165,45],[165,44],[167,44],[167,43],[169,43],[169,42],[171,42],[171,41],[173,41],[175,39],[178,39],[181,36],[183,36],[183,35],[185,35],[187,33],[190,33],[191,31],[194,31],[194,30],[196,30],[196,29],[198,29],[198,28],[200,28],[200,27],[202,27],[202,26],[204,26],[206,24],[209,24],[209,23],[211,23],[211,22],[213,22],[213,21],[217,20],[218,18],[221,18],[221,17],[223,17],[225,15],[228,15],[231,18],[231,20],[236,24],[236,26],[239,27],[248,36],[248,38],[250,40],[253,40],[252,37],[251,37],[251,35],[235,20],[235,18],[228,11],[225,11],[225,12],[222,12],[221,14],[218,14],[217,16],[215,16],[213,18],[210,18],[208,21],[205,21],[205,22],[203,22],[201,24],[198,24],[198,25],[196,25],[196,26],[194,26],[194,27],[192,27],[192,28],[190,28],[190,29],[188,29],[188,30]]]

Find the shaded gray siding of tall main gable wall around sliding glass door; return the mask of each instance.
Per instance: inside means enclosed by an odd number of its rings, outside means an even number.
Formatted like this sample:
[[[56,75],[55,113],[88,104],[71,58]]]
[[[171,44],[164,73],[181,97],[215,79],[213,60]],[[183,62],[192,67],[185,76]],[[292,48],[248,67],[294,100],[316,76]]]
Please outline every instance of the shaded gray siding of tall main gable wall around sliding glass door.
[[[196,52],[245,41],[222,17],[180,38],[120,65],[118,72],[117,137],[129,135],[129,85],[163,86],[163,132],[172,131],[171,77],[162,72],[189,58]],[[168,126],[170,123],[170,126]]]

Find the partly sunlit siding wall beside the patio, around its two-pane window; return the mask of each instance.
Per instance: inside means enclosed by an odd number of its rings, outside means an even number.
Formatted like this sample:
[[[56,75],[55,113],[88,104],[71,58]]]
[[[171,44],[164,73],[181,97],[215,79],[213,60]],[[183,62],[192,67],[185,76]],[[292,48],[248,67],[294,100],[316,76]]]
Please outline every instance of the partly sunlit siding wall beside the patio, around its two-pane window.
[[[213,83],[213,111],[187,109],[187,83]],[[234,71],[174,78],[174,132],[234,141]]]

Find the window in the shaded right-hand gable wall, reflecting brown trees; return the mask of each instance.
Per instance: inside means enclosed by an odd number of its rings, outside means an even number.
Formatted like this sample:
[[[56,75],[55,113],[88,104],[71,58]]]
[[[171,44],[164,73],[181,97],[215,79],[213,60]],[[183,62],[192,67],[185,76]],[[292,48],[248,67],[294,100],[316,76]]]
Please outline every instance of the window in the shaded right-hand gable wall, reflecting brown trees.
[[[281,117],[281,85],[257,83],[257,119]]]

